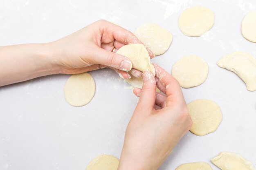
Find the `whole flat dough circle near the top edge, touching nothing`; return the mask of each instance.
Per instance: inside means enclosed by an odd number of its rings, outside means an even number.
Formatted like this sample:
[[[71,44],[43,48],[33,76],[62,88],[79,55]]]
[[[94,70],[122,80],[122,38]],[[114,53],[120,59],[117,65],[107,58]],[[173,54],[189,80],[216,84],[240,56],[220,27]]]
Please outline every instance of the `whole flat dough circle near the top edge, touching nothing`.
[[[179,27],[182,33],[197,37],[211,29],[214,13],[207,7],[190,7],[180,14]]]

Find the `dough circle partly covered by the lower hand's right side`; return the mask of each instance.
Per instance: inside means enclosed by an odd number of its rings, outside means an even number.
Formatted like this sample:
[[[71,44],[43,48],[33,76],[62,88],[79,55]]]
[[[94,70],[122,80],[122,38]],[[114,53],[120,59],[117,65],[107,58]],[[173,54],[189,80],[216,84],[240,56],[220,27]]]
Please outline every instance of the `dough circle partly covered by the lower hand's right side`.
[[[203,136],[214,132],[222,121],[220,107],[211,100],[198,99],[187,106],[193,121],[190,131],[195,135]]]

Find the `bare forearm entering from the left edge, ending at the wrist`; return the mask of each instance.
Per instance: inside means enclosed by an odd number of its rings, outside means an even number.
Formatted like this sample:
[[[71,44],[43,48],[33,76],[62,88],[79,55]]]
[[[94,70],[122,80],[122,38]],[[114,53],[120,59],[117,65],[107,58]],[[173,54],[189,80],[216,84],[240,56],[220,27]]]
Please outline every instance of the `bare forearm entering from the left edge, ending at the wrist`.
[[[0,47],[0,86],[56,73],[57,60],[48,44]]]

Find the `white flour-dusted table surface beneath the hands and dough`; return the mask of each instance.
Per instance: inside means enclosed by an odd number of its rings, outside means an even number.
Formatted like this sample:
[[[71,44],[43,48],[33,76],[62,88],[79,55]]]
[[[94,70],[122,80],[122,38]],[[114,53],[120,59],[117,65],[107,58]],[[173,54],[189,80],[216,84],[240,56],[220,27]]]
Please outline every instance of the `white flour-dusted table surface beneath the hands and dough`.
[[[184,9],[197,5],[215,13],[215,24],[203,36],[191,38],[183,35],[177,22]],[[184,97],[187,103],[211,99],[223,113],[216,132],[203,137],[188,132],[159,169],[210,163],[221,151],[237,152],[255,164],[256,91],[247,91],[237,75],[216,65],[234,51],[256,57],[256,43],[240,33],[243,17],[253,9],[255,0],[0,0],[0,46],[50,42],[99,19],[130,31],[145,22],[159,24],[171,31],[173,42],[152,61],[171,73],[184,55],[203,57],[209,64],[208,78],[200,86],[182,89]],[[91,74],[96,93],[83,107],[65,102],[63,86],[69,75],[0,88],[0,170],[84,170],[97,155],[120,157],[137,97],[114,71]]]

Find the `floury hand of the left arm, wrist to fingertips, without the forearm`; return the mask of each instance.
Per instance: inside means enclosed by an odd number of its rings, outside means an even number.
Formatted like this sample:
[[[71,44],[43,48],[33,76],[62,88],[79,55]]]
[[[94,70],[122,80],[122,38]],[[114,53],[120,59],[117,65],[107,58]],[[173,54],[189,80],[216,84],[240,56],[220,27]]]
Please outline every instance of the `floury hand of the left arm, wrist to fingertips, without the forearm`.
[[[49,43],[56,54],[60,73],[74,74],[109,67],[130,78],[130,60],[114,52],[126,44],[139,43],[134,34],[106,20],[99,20],[65,38]],[[150,57],[154,57],[148,49]]]

